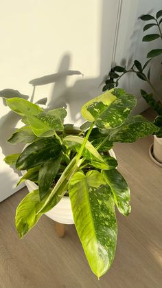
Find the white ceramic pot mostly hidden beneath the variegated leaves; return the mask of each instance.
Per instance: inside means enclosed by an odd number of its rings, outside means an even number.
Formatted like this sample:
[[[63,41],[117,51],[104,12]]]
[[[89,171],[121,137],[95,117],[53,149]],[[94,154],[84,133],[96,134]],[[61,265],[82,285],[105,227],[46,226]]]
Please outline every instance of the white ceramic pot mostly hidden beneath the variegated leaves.
[[[111,149],[109,153],[112,157],[116,159],[113,149]],[[25,171],[21,171],[21,173],[22,175],[24,175]],[[38,189],[38,186],[30,180],[26,180],[25,184],[29,192],[32,192],[33,190]],[[74,223],[73,213],[71,210],[71,202],[68,196],[62,197],[60,202],[54,208],[49,210],[49,212],[45,213],[45,215],[47,215],[47,217],[59,223],[64,223],[64,224]]]

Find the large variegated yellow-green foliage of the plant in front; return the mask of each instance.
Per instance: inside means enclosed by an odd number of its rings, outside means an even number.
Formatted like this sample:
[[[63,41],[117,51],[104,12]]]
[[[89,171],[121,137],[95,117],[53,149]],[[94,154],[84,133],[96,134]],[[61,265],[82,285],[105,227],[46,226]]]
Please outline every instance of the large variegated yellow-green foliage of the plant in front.
[[[19,236],[67,197],[86,258],[100,278],[115,256],[115,206],[125,216],[130,213],[130,189],[117,170],[111,148],[115,142],[135,142],[159,128],[141,115],[130,115],[136,98],[123,89],[111,89],[86,102],[81,110],[86,122],[80,129],[63,124],[64,108],[44,111],[21,98],[6,103],[25,123],[8,142],[28,146],[5,157],[5,162],[25,171],[19,183],[27,180],[37,185],[16,209]]]

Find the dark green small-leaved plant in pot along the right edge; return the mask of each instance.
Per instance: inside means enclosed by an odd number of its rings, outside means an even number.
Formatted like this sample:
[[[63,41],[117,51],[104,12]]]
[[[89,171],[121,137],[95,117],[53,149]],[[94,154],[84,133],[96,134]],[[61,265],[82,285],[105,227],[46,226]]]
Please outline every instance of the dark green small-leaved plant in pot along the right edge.
[[[155,16],[150,14],[145,14],[139,17],[142,21],[149,21],[148,24],[144,25],[143,32],[147,31],[152,27],[157,27],[157,33],[154,34],[146,34],[143,36],[143,42],[155,41],[159,38],[162,39],[161,32],[161,23],[162,23],[162,10],[159,10]],[[151,22],[151,23],[150,23]],[[105,80],[105,85],[103,87],[103,91],[108,89],[112,89],[113,87],[117,87],[119,85],[119,80],[125,74],[134,73],[143,81],[148,82],[148,85],[152,89],[156,98],[154,98],[153,93],[147,93],[143,89],[141,89],[141,96],[146,100],[146,102],[156,111],[157,117],[154,120],[154,124],[157,125],[160,130],[157,133],[154,133],[154,144],[150,146],[149,154],[151,159],[157,163],[159,166],[162,166],[162,96],[161,93],[157,91],[157,87],[154,87],[151,81],[151,67],[150,63],[152,60],[162,54],[161,47],[157,47],[157,49],[152,49],[147,54],[147,60],[144,65],[141,65],[139,60],[134,60],[130,67],[125,66],[115,66],[111,68],[111,71],[108,74],[108,77]],[[160,60],[161,64],[161,60]],[[159,79],[162,80],[162,75],[159,76]]]

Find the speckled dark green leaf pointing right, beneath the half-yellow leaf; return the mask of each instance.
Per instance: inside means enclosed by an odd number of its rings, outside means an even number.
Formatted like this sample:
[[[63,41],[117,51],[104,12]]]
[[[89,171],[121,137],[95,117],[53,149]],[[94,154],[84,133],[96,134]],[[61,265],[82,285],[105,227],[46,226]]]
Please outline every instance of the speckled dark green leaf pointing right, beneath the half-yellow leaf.
[[[128,120],[117,129],[102,130],[102,133],[107,133],[109,140],[112,142],[132,143],[141,137],[147,137],[157,131],[157,126],[152,122],[143,118],[141,115],[135,115],[128,118]]]

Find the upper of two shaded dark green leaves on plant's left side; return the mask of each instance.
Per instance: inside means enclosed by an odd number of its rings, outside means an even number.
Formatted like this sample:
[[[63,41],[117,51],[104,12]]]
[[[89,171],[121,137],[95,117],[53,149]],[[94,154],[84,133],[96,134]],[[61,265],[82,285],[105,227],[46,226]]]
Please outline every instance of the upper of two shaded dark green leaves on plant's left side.
[[[56,137],[40,139],[23,150],[16,162],[17,170],[28,170],[48,159],[55,159],[60,155],[62,146],[56,140]]]

